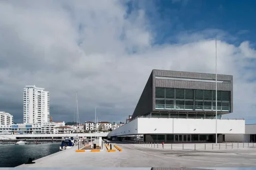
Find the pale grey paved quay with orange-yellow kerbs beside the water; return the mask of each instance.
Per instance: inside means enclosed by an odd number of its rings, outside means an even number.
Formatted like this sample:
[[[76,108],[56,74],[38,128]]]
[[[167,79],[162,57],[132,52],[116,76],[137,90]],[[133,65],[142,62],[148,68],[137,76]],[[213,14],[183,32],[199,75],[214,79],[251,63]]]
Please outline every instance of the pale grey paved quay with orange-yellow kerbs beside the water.
[[[141,145],[127,142],[108,141],[112,149],[114,145],[122,151],[107,152],[106,147],[100,152],[76,152],[78,146],[35,160],[34,164],[24,164],[19,168],[57,168],[57,167],[255,167],[256,143],[228,143],[229,147],[219,148],[219,144],[205,143]],[[187,144],[187,145],[186,145]],[[212,148],[212,145],[214,147]],[[237,148],[238,145],[238,148]],[[218,146],[218,147],[217,147]],[[233,146],[233,148],[232,148]],[[236,147],[235,147],[236,146]],[[241,147],[240,147],[241,146]],[[254,147],[255,146],[255,147]]]

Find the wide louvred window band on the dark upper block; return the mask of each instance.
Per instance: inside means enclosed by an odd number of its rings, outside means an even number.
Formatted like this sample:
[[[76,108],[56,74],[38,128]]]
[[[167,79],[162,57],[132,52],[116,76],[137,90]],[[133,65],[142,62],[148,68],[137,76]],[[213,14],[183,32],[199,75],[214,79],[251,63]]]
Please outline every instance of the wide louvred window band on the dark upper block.
[[[156,87],[157,110],[215,111],[215,90]],[[217,91],[217,110],[230,112],[231,91]]]

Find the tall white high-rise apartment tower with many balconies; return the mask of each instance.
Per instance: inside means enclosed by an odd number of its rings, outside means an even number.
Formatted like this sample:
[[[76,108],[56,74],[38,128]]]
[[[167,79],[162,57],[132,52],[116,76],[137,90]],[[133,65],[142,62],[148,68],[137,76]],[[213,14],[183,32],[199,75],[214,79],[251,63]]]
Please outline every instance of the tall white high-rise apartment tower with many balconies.
[[[23,92],[24,124],[42,124],[49,122],[49,91],[35,85],[26,85]]]

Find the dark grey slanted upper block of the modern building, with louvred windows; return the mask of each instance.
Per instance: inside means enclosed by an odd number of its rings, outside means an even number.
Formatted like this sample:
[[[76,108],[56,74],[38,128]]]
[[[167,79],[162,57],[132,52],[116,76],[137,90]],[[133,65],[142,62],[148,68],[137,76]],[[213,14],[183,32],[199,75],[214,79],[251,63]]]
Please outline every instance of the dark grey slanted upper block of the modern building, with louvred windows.
[[[154,112],[215,113],[215,81],[215,74],[153,70],[132,118]],[[217,81],[217,111],[232,113],[233,76],[218,74]]]

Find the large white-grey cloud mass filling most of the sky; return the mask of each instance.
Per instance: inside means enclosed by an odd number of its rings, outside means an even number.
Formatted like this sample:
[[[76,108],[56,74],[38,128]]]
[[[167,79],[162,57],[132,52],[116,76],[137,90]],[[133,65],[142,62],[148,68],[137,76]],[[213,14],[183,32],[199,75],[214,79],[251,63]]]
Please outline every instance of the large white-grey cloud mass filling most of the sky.
[[[14,119],[22,117],[25,85],[51,92],[55,120],[73,120],[78,91],[82,121],[94,118],[96,105],[100,120],[124,121],[152,69],[215,72],[215,40],[207,31],[180,36],[182,44],[152,45],[143,10],[128,15],[118,1],[41,2],[0,2],[0,101],[20,106],[0,110]],[[234,75],[228,117],[254,115],[256,88],[245,67],[255,53],[248,42],[218,41],[218,73]]]

